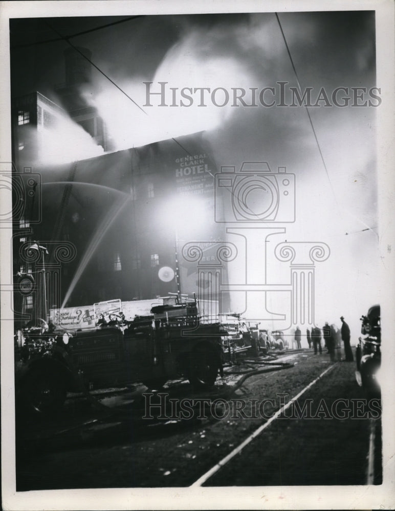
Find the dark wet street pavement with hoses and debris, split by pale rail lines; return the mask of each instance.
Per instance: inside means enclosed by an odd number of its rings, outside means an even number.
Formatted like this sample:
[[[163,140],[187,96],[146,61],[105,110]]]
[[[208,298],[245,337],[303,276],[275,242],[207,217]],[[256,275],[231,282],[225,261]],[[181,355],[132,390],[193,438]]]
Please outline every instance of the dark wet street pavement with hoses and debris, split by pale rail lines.
[[[204,391],[182,380],[159,391],[136,384],[96,392],[90,401],[69,396],[51,419],[20,416],[17,490],[192,485],[333,365],[310,350],[276,356],[227,367]],[[354,364],[336,363],[299,398],[300,407],[311,402],[314,415],[322,398],[330,410],[339,398],[348,407],[363,401],[354,371]],[[321,413],[273,420],[202,484],[365,484],[372,421],[379,483],[381,423],[362,410],[354,419]]]

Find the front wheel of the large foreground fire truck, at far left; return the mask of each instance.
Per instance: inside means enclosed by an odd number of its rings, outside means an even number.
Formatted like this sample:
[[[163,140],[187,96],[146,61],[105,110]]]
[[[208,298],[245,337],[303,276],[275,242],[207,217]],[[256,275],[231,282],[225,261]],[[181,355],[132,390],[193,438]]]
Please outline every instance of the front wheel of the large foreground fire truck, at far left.
[[[53,370],[34,370],[27,375],[22,389],[24,404],[39,413],[58,411],[66,399],[63,378]]]

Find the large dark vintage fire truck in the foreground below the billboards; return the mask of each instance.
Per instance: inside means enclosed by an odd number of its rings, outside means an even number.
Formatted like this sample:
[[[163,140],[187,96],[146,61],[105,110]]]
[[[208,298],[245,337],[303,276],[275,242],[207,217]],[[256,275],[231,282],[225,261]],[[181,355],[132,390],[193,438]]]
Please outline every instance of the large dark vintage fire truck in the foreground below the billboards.
[[[202,323],[193,301],[152,307],[133,321],[77,332],[25,330],[15,343],[15,383],[19,402],[38,412],[59,409],[68,391],[89,391],[141,382],[159,389],[184,377],[209,387],[223,376],[221,323]]]

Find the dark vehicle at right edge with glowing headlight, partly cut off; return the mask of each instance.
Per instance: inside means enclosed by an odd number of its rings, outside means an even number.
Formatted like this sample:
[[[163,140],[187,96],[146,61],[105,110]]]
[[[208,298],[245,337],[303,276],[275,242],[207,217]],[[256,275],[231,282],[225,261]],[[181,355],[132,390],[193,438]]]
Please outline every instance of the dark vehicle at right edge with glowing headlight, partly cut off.
[[[368,392],[380,393],[381,322],[380,305],[370,307],[362,316],[361,337],[356,350],[356,379]]]

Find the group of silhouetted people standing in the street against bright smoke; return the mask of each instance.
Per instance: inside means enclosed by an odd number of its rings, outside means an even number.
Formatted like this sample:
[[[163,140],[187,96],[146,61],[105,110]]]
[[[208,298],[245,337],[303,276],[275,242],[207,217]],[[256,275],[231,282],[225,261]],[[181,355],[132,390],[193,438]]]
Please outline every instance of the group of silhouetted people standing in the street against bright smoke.
[[[340,330],[340,337],[341,340],[344,343],[344,355],[345,355],[345,361],[346,362],[353,362],[354,356],[353,351],[351,349],[350,345],[350,329],[348,327],[348,324],[344,321],[344,317],[341,316],[340,318],[342,322],[341,330]],[[329,325],[327,321],[325,322],[324,326],[322,327],[322,336],[321,336],[321,329],[317,327],[313,327],[311,331],[309,329],[306,330],[306,338],[307,342],[309,343],[309,348],[312,346],[314,347],[314,354],[317,355],[317,353],[322,353],[322,346],[321,346],[321,338],[324,339],[325,348],[327,350],[327,353],[331,356],[331,360],[334,362],[336,360],[336,348],[341,347],[340,339],[338,338],[338,333],[336,332],[333,325]],[[301,331],[299,327],[296,327],[295,330],[295,342],[297,348],[301,347]],[[339,352],[340,355],[340,352]]]

